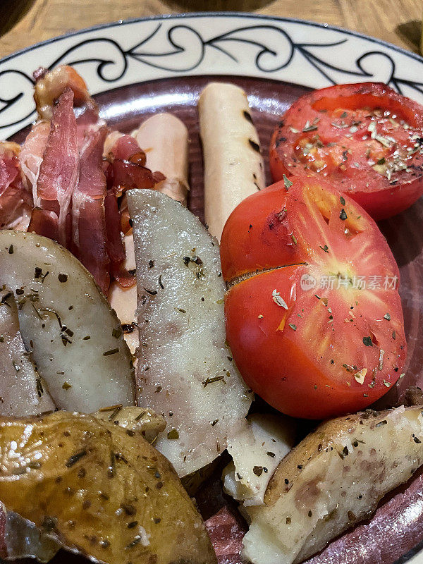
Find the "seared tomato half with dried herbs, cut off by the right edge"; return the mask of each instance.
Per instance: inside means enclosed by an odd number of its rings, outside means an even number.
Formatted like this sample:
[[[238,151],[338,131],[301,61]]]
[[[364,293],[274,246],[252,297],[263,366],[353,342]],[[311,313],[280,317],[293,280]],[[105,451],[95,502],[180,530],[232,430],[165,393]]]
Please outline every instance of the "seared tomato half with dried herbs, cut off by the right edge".
[[[423,193],[423,106],[380,83],[336,85],[300,97],[270,145],[274,180],[326,178],[376,220]]]

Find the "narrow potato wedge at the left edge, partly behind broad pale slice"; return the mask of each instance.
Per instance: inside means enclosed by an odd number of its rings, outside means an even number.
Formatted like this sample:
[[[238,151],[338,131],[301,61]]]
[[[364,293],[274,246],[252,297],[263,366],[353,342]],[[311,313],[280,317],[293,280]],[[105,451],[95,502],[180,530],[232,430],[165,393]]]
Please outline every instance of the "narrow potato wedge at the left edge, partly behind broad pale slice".
[[[55,407],[23,344],[13,293],[0,290],[0,415],[39,415]]]

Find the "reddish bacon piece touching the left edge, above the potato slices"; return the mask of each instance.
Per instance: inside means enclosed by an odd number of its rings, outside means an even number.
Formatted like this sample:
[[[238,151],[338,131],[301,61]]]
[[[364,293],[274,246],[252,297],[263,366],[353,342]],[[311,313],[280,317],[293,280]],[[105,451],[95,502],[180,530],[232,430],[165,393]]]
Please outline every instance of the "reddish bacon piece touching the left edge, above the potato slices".
[[[0,143],[0,228],[23,228],[27,226],[32,207],[20,172],[19,145]]]

